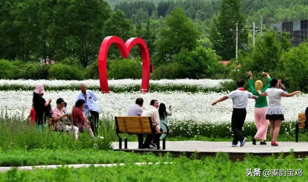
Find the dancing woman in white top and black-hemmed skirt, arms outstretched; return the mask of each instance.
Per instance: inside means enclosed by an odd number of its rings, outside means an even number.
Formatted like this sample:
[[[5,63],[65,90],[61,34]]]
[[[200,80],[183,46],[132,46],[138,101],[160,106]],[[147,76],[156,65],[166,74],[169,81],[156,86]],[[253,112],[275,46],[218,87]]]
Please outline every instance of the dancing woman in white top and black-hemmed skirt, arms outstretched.
[[[261,93],[260,90],[257,90],[257,92],[262,96],[268,96],[269,102],[268,107],[265,111],[265,118],[270,120],[270,137],[272,138],[271,145],[278,146],[278,143],[276,143],[276,139],[279,134],[281,121],[284,119],[284,112],[281,106],[281,97],[292,97],[295,94],[301,94],[301,91],[295,91],[290,94],[284,92],[282,89],[278,89],[279,83],[276,78],[272,79],[270,81],[270,84],[272,88],[268,88],[265,90],[265,92]]]

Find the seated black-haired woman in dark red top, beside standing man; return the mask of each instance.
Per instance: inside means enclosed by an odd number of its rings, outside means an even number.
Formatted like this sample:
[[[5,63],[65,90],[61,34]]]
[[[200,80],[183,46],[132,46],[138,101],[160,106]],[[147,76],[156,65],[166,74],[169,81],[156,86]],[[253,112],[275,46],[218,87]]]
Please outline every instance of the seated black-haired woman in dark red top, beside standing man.
[[[79,128],[79,131],[81,133],[84,132],[84,130],[88,130],[90,138],[95,138],[93,131],[91,130],[91,127],[89,125],[88,120],[83,114],[83,109],[85,106],[85,101],[83,99],[80,99],[76,102],[75,108],[72,111],[71,117],[74,121],[74,125]]]

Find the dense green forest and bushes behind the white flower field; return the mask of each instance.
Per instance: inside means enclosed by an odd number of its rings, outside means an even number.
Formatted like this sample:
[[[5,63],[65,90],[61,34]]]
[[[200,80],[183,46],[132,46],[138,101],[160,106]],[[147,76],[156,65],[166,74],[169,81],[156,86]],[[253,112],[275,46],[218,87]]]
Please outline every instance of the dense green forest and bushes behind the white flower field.
[[[308,0],[0,0],[0,8],[0,78],[8,79],[32,78],[21,74],[31,71],[24,64],[50,60],[57,66],[34,77],[57,78],[63,72],[88,69],[70,79],[97,78],[99,46],[111,35],[146,41],[155,66],[153,79],[236,79],[254,64],[255,71],[266,68],[279,74],[288,65],[283,60],[291,59],[290,51],[296,54],[299,47],[291,44],[288,33],[271,30],[270,24],[308,19]],[[256,31],[253,48],[253,22],[260,27],[261,21],[262,34]],[[236,24],[238,59],[234,59]],[[223,66],[218,60],[231,64]],[[269,62],[274,67],[268,67]],[[237,68],[239,64],[246,66]],[[17,67],[22,71],[15,73]],[[111,78],[140,78],[138,48],[123,60],[111,46],[107,67]]]

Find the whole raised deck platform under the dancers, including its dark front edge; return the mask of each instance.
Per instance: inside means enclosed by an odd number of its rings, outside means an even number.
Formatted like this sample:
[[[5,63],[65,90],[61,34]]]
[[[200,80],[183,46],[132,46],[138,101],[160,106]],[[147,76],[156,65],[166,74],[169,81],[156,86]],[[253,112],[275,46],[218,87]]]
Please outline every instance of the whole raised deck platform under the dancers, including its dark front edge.
[[[229,154],[229,158],[232,161],[236,159],[244,159],[246,153],[265,157],[272,154],[279,155],[283,152],[286,155],[289,154],[291,149],[294,149],[296,157],[304,158],[308,156],[308,142],[292,142],[292,141],[280,141],[277,142],[279,146],[271,146],[270,141],[267,145],[252,145],[252,142],[246,142],[243,147],[231,147],[231,142],[218,142],[218,141],[166,141],[165,150],[154,149],[138,149],[138,142],[128,142],[128,149],[119,149],[119,142],[112,142],[114,150],[123,150],[127,152],[153,152],[155,155],[171,153],[173,157],[178,157],[184,153],[187,157],[190,157],[192,153],[197,151],[198,157],[212,156],[215,157],[217,152],[225,152]],[[239,145],[239,144],[238,144]],[[162,146],[162,144],[160,144]],[[124,144],[122,145],[124,148]]]

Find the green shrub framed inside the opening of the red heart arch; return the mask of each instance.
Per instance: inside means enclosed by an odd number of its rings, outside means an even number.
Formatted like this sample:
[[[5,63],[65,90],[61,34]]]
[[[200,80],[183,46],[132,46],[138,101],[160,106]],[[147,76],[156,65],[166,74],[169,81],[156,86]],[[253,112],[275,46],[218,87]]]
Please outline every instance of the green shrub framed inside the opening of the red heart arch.
[[[141,59],[112,60],[107,73],[109,79],[140,79],[142,75]]]

